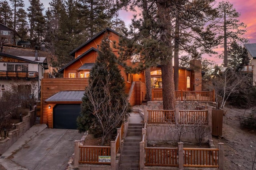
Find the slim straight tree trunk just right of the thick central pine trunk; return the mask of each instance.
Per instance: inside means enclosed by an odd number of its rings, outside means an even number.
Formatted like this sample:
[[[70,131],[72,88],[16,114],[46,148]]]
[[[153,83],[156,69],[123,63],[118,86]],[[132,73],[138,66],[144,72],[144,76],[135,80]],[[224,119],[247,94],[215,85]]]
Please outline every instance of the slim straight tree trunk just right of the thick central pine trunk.
[[[179,89],[179,38],[180,38],[180,25],[179,18],[176,16],[175,20],[175,36],[174,36],[174,86],[175,90]]]

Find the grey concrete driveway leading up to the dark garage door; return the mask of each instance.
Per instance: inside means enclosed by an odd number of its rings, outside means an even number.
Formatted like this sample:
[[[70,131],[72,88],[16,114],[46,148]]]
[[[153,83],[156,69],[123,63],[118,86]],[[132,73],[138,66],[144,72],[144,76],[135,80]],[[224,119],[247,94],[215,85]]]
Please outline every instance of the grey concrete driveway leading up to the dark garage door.
[[[74,140],[82,135],[78,130],[45,128],[8,159],[22,169],[65,170],[74,152]]]

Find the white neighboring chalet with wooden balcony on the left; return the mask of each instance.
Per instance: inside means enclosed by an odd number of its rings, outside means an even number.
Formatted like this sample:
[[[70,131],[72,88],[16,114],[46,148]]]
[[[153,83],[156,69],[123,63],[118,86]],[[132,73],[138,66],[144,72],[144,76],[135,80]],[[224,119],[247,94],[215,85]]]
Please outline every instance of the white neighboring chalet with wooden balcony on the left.
[[[46,57],[14,56],[0,52],[0,95],[16,84],[19,87],[30,86],[35,99],[38,99],[46,69]]]

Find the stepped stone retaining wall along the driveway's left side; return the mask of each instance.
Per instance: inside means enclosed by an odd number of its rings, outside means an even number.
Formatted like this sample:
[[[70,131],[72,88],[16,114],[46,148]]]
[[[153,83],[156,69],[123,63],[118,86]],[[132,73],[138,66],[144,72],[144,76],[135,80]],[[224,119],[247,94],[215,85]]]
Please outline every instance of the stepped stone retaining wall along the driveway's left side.
[[[8,137],[0,141],[0,155],[3,154],[14,142],[16,142],[30,127],[34,125],[36,121],[36,106],[32,111],[28,112],[28,115],[22,118],[22,122],[15,124],[16,129],[11,130],[8,133]]]

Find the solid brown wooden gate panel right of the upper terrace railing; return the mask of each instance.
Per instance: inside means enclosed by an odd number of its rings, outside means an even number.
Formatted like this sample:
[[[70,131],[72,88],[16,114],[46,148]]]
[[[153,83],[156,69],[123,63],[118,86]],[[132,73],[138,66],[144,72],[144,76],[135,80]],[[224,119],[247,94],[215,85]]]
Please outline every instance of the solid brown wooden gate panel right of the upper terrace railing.
[[[212,135],[222,136],[223,110],[212,110]]]

